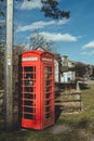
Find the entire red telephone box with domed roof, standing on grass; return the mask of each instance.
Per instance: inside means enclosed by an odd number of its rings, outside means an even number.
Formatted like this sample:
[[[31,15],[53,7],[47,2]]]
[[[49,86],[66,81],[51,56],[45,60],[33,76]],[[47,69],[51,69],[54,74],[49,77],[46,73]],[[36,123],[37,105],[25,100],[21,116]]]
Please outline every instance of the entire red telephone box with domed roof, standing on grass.
[[[44,51],[24,52],[21,61],[24,128],[43,129],[54,124],[54,56]]]

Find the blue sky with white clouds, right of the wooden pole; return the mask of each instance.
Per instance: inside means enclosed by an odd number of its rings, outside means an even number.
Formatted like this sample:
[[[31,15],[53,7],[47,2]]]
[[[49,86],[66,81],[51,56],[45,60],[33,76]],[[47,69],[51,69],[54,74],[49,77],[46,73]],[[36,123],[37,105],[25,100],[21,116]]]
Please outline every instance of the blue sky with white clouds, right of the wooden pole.
[[[29,46],[37,30],[69,60],[94,65],[94,0],[58,0],[58,8],[70,11],[68,20],[45,17],[40,0],[14,3],[14,43]]]

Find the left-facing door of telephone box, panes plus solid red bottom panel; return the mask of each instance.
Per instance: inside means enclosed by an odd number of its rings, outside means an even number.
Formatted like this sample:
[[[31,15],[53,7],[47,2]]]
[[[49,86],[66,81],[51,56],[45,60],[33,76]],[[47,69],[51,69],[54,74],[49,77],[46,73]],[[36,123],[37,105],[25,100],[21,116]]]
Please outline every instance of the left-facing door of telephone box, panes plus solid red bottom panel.
[[[22,67],[22,127],[40,128],[37,115],[37,66]],[[39,112],[40,113],[40,112]]]

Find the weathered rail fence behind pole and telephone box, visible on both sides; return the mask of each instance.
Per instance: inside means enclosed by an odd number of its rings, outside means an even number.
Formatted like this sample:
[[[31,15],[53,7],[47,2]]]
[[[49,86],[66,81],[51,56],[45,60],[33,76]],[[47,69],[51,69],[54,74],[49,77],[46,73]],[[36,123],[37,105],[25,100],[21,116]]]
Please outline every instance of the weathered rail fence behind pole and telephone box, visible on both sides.
[[[18,117],[18,94],[13,94],[13,114]],[[55,92],[56,113],[72,113],[81,111],[81,92],[76,90],[59,90]],[[0,90],[0,117],[4,115],[4,90]]]

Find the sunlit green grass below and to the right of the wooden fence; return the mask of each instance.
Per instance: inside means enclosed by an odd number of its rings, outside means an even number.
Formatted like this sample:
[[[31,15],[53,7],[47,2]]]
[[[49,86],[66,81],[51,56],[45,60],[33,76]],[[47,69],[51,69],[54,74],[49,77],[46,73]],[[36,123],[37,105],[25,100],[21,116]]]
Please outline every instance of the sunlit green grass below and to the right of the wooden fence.
[[[59,124],[77,125],[84,120],[88,123],[94,121],[94,85],[89,85],[88,89],[82,90],[82,112],[79,114],[62,115]]]

